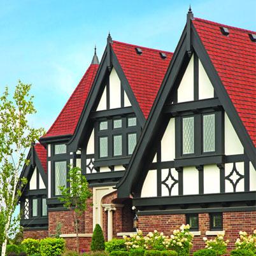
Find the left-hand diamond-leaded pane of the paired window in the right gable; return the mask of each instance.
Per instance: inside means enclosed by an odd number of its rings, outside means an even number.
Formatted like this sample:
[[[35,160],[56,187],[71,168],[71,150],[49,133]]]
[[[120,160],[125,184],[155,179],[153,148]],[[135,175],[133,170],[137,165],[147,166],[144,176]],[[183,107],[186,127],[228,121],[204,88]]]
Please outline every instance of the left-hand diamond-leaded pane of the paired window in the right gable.
[[[183,154],[194,153],[194,117],[183,118]]]

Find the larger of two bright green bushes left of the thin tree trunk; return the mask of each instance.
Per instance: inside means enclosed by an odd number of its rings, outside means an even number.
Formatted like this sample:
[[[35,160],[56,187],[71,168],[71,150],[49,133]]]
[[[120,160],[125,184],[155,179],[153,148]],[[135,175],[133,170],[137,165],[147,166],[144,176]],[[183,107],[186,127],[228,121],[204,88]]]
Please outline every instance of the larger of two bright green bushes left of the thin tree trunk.
[[[41,240],[41,256],[59,256],[64,250],[65,240],[62,238],[45,238]]]

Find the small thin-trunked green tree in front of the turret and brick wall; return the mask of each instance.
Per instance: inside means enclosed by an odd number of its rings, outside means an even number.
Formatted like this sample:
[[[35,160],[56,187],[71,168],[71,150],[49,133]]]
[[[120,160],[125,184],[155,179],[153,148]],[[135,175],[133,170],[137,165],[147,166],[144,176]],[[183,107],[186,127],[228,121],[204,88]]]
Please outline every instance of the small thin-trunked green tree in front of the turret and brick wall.
[[[64,207],[68,208],[73,213],[76,233],[76,250],[79,253],[78,246],[78,225],[79,218],[87,209],[87,199],[92,196],[88,182],[82,174],[82,169],[79,167],[71,167],[68,173],[69,187],[62,186],[60,191],[62,197],[59,200],[64,203]]]

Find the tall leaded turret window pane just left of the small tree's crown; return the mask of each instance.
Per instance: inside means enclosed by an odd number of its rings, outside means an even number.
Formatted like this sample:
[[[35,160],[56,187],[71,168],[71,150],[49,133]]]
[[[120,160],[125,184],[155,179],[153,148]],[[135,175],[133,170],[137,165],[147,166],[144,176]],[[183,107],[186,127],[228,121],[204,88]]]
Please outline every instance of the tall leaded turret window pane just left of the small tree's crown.
[[[67,185],[67,164],[66,161],[55,162],[55,196],[60,196],[60,186]]]

